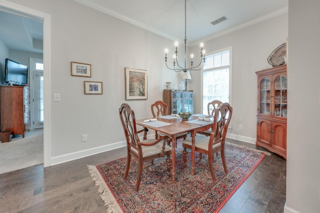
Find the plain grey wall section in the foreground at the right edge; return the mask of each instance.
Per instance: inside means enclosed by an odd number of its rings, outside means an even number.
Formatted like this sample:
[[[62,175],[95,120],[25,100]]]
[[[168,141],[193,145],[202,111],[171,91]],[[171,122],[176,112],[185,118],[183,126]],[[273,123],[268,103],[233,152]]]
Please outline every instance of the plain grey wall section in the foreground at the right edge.
[[[320,1],[289,0],[286,208],[320,210]]]

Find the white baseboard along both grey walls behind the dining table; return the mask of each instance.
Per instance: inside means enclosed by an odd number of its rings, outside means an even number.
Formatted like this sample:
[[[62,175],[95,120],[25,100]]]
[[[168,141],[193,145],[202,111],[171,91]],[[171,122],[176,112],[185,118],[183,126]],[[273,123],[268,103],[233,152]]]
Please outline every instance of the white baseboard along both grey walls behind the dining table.
[[[147,136],[148,136],[148,138],[153,138],[154,134],[148,134]],[[226,137],[231,138],[231,139],[240,140],[243,142],[255,144],[255,138],[251,138],[251,137],[245,137],[245,136],[236,135],[236,134],[229,134],[229,133],[226,134]],[[142,139],[142,137],[140,139]],[[112,144],[107,144],[107,145],[103,145],[103,146],[99,146],[99,147],[89,148],[89,149],[76,151],[76,152],[72,152],[72,153],[68,153],[68,154],[62,154],[59,156],[51,157],[51,165],[56,165],[56,164],[68,162],[71,160],[79,159],[82,157],[87,157],[87,156],[98,154],[98,153],[101,153],[104,151],[110,151],[112,149],[121,148],[124,146],[126,146],[126,142],[119,141],[119,142],[115,142]]]

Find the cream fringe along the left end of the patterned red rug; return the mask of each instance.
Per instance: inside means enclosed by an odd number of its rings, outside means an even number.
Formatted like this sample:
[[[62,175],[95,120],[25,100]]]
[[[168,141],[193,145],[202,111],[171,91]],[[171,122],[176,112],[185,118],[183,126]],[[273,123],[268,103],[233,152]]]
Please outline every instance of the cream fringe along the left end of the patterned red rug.
[[[113,197],[113,194],[109,190],[109,188],[106,186],[102,176],[96,169],[94,165],[87,165],[86,166],[89,169],[89,174],[91,175],[93,181],[96,185],[99,186],[98,192],[100,193],[100,197],[104,202],[104,206],[107,208],[108,213],[119,213],[122,212],[120,206],[117,204],[116,200]]]

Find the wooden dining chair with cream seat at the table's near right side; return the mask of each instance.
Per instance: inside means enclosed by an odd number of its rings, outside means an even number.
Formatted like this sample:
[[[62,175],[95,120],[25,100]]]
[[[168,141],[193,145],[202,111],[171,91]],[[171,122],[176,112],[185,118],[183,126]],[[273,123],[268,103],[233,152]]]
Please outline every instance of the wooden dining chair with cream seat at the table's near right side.
[[[205,135],[195,136],[195,151],[200,154],[204,153],[208,155],[209,169],[212,180],[215,181],[215,175],[213,171],[214,153],[220,151],[221,160],[223,164],[224,172],[227,173],[225,157],[224,157],[224,142],[228,129],[228,125],[232,116],[232,107],[229,103],[222,103],[214,110],[214,121],[212,124],[212,131],[210,137]],[[182,142],[183,146],[183,167],[186,166],[186,149],[191,149],[192,138],[186,138]],[[194,153],[192,153],[194,154]]]

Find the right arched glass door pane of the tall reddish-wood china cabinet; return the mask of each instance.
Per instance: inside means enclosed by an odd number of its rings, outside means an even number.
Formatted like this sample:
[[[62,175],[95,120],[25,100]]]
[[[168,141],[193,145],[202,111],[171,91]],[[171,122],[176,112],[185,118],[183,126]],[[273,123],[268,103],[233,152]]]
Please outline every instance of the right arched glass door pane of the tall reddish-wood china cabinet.
[[[274,116],[286,117],[287,83],[284,75],[274,80]]]

